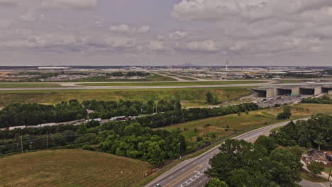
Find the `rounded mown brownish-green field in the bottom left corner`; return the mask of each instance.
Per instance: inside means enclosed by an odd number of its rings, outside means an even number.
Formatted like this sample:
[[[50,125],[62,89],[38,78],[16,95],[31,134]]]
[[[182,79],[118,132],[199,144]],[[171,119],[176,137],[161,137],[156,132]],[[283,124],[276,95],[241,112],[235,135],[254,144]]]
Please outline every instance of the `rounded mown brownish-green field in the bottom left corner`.
[[[58,149],[0,158],[0,171],[0,186],[121,187],[143,179],[151,167],[113,154]]]

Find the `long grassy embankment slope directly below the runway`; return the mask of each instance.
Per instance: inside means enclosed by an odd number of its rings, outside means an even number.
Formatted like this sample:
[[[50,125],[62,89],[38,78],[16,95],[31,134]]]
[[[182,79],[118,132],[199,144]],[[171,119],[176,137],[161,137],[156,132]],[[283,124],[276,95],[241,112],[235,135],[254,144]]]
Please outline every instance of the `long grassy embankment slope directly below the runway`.
[[[44,91],[0,91],[0,106],[8,103],[59,103],[70,99],[104,101],[148,101],[179,99],[183,106],[201,106],[207,91],[215,93],[220,101],[236,100],[252,92],[247,87],[195,88],[195,89],[130,89],[130,90],[44,90]]]

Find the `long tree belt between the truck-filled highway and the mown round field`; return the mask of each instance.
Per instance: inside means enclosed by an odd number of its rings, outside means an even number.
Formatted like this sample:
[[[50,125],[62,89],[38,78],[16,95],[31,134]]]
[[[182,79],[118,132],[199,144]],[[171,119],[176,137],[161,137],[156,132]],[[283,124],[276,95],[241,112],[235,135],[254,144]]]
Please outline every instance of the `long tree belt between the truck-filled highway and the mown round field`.
[[[0,155],[23,151],[55,148],[89,149],[118,156],[141,159],[155,166],[164,164],[187,152],[187,142],[180,131],[151,130],[137,122],[108,122],[99,125],[92,121],[81,125],[59,125],[40,129],[0,132]],[[47,134],[46,134],[47,133]],[[11,137],[11,139],[9,139]],[[91,147],[89,145],[95,145]]]

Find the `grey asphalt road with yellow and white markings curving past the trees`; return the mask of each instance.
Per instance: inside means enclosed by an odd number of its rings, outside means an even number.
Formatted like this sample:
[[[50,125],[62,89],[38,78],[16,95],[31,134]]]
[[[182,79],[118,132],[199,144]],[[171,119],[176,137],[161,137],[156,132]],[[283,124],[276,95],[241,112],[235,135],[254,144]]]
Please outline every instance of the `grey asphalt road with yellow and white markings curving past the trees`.
[[[307,119],[308,118],[304,118],[301,120]],[[254,142],[260,135],[265,135],[270,132],[270,130],[287,125],[287,123],[289,123],[289,121],[252,130],[243,135],[234,137],[233,139]],[[154,187],[157,183],[160,183],[162,187],[204,186],[204,184],[209,181],[209,178],[204,176],[204,171],[209,167],[209,159],[214,157],[214,155],[219,152],[218,148],[219,146],[214,147],[198,157],[187,159],[184,162],[177,164],[177,166],[173,167],[149,183],[147,187]]]

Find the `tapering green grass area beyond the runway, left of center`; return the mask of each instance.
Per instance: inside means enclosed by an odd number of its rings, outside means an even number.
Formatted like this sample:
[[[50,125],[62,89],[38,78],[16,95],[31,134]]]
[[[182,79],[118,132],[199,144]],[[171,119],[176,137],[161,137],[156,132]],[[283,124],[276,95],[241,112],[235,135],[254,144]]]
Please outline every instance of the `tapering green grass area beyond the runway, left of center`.
[[[135,81],[176,81],[176,79],[172,79],[171,77],[165,77],[160,74],[152,74],[151,76],[145,77],[143,79],[107,79],[106,76],[104,77],[88,77],[82,79],[75,79],[72,82],[94,82],[94,81],[128,81],[128,82],[135,82]]]

